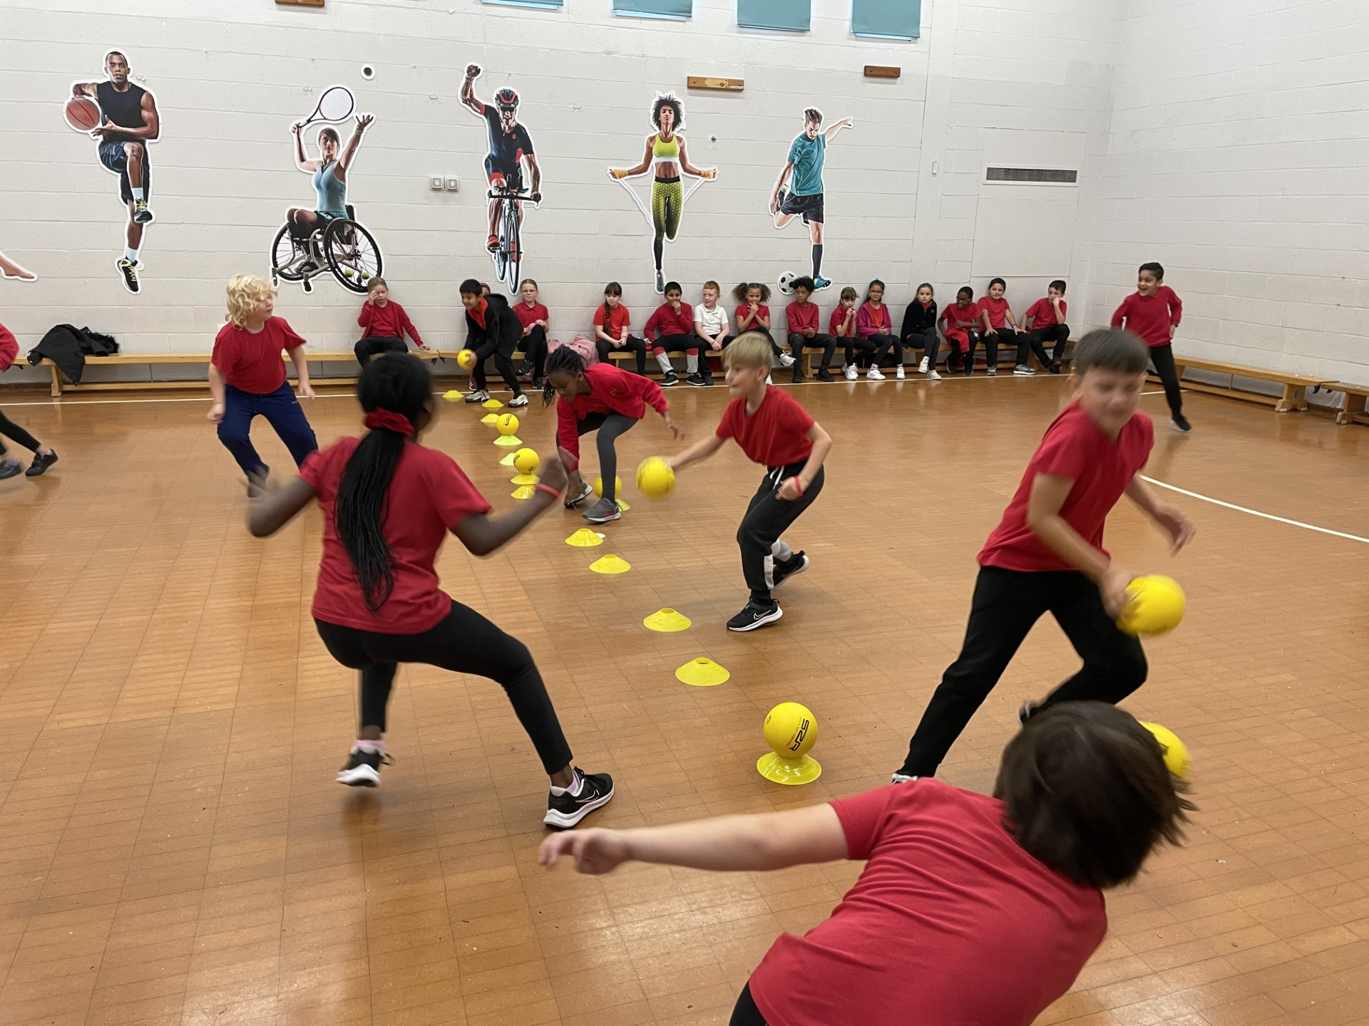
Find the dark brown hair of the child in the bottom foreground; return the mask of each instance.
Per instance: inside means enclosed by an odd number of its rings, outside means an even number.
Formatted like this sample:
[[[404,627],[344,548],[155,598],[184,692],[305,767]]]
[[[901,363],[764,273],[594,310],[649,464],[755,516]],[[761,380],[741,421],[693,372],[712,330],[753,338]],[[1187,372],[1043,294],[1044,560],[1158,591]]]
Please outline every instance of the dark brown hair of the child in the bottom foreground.
[[[905,785],[906,787],[906,785]],[[1179,844],[1187,788],[1160,741],[1106,702],[1061,702],[1031,717],[1003,748],[994,798],[1029,855],[1076,884],[1132,880],[1157,847]]]

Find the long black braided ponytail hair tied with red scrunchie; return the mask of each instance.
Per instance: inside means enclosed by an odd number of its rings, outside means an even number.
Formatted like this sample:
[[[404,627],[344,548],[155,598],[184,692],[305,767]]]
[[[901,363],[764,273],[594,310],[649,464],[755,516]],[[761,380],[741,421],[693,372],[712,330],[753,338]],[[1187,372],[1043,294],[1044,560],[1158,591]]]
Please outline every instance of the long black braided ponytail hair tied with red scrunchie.
[[[407,353],[385,353],[370,361],[356,384],[367,413],[383,409],[418,421],[433,397],[433,372]],[[390,428],[371,428],[361,439],[338,484],[333,524],[352,560],[366,607],[372,613],[394,591],[394,555],[385,538],[385,498],[404,453],[404,439]]]

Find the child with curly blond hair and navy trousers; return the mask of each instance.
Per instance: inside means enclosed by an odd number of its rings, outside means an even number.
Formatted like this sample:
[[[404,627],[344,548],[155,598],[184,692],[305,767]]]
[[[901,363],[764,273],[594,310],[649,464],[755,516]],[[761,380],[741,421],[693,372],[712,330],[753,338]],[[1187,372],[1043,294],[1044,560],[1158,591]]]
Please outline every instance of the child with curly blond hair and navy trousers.
[[[282,349],[289,350],[298,373],[300,395],[312,399],[314,389],[309,387],[304,339],[285,317],[272,316],[275,289],[270,282],[256,275],[235,275],[229,279],[227,305],[229,323],[219,328],[209,357],[214,405],[208,419],[219,425],[219,440],[248,476],[248,495],[255,497],[255,482],[270,472],[249,436],[257,415],[281,436],[297,466],[319,447],[304,408],[285,380]]]

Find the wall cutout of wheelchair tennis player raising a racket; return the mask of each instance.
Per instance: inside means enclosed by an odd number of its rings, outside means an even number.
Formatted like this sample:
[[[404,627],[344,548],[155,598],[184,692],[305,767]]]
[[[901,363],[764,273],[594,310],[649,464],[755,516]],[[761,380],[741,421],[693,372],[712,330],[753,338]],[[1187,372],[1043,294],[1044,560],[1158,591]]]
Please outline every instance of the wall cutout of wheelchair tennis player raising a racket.
[[[319,97],[314,114],[290,126],[294,137],[294,166],[307,175],[316,193],[314,208],[292,207],[285,224],[271,244],[271,282],[298,282],[304,291],[314,291],[314,278],[333,272],[338,285],[366,294],[372,278],[383,271],[381,248],[356,211],[346,201],[348,175],[361,146],[361,137],[375,120],[359,114],[352,134],[342,144],[338,130],[324,124],[315,135],[318,157],[304,148],[304,130],[315,122],[341,123],[352,118],[356,100],[345,86],[330,86]]]

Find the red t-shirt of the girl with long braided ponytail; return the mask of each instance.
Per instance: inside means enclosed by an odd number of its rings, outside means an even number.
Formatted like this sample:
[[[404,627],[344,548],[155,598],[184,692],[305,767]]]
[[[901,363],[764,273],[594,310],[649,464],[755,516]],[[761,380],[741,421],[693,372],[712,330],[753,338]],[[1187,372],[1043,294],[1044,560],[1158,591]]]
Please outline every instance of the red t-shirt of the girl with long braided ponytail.
[[[385,497],[381,521],[394,557],[394,591],[372,613],[366,607],[352,558],[333,523],[342,472],[360,442],[359,438],[340,438],[327,449],[311,453],[300,468],[300,479],[314,486],[323,509],[323,558],[314,591],[314,617],[382,635],[431,631],[452,610],[452,599],[437,586],[433,561],[448,531],[471,513],[489,513],[490,503],[446,453],[407,442]]]

